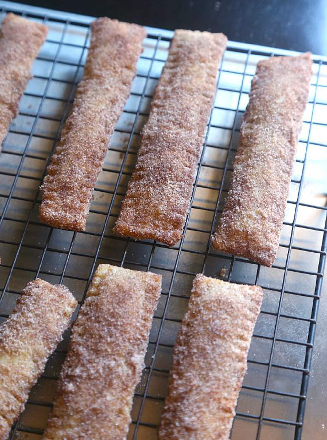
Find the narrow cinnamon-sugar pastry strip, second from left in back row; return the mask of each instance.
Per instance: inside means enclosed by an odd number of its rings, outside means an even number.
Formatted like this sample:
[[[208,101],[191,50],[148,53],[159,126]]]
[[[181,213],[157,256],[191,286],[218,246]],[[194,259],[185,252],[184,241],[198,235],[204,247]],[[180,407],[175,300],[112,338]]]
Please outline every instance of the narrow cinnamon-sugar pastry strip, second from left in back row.
[[[39,217],[44,223],[85,230],[94,185],[130,93],[144,37],[142,26],[106,17],[92,23],[84,76],[42,185]]]

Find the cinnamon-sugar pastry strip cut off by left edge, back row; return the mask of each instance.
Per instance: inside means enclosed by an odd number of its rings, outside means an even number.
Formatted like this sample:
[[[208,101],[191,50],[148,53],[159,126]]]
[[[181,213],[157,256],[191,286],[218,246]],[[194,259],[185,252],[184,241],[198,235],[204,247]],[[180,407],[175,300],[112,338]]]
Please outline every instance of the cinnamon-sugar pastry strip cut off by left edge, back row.
[[[0,148],[32,78],[32,64],[47,37],[47,27],[7,14],[0,30]]]

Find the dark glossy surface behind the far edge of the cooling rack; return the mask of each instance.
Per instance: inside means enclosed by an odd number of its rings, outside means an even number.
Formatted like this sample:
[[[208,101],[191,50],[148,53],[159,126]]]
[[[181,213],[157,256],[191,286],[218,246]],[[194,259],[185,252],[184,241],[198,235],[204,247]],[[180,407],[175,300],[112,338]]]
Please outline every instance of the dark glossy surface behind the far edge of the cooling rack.
[[[44,0],[28,3],[51,7]],[[326,0],[57,0],[52,6],[164,29],[223,32],[229,40],[327,55]]]

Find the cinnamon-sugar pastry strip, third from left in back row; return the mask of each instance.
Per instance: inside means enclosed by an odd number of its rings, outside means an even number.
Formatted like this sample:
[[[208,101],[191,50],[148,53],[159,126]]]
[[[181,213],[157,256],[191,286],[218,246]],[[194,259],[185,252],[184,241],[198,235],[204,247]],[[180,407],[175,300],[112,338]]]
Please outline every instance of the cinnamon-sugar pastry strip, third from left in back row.
[[[116,234],[169,246],[182,238],[226,43],[222,33],[175,31]]]

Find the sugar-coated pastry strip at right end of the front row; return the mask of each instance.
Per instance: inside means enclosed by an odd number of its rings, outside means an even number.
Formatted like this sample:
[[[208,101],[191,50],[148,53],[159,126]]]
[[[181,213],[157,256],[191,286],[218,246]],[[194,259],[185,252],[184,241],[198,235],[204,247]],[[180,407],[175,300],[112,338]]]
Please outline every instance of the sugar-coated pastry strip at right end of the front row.
[[[196,275],[174,346],[160,440],[229,438],[261,303],[259,286]]]

